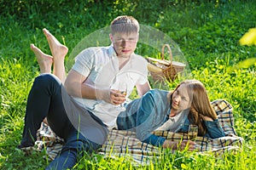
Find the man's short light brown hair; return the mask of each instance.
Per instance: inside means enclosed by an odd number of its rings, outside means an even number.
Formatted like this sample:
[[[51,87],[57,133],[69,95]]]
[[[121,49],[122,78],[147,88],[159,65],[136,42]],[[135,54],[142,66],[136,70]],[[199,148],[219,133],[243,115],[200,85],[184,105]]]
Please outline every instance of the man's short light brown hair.
[[[111,34],[114,35],[115,33],[127,33],[130,34],[131,32],[139,32],[140,26],[138,21],[133,18],[132,16],[119,16],[115,18],[111,22]]]

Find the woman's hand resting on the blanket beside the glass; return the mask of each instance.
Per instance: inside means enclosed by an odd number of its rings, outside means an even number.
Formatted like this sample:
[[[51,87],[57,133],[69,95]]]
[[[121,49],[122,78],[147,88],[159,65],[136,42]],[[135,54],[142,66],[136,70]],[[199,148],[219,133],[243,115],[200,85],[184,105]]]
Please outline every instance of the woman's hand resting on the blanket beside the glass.
[[[181,142],[176,142],[166,139],[163,148],[170,148],[172,150],[184,150],[188,147],[189,151],[195,150],[195,142],[191,140],[183,140]]]

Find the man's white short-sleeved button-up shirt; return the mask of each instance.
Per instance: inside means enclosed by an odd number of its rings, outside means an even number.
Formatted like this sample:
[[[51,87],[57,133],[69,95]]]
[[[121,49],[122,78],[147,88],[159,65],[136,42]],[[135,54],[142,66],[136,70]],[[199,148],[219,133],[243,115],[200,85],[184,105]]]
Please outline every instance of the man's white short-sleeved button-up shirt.
[[[142,56],[131,54],[130,60],[119,70],[119,60],[111,45],[84,49],[76,57],[73,70],[87,77],[84,84],[97,89],[109,89],[115,83],[125,81],[129,96],[136,84],[144,84],[148,81],[147,65],[147,60]],[[92,111],[108,127],[116,126],[116,118],[120,112],[116,105],[108,104],[103,100],[74,99],[79,105]]]

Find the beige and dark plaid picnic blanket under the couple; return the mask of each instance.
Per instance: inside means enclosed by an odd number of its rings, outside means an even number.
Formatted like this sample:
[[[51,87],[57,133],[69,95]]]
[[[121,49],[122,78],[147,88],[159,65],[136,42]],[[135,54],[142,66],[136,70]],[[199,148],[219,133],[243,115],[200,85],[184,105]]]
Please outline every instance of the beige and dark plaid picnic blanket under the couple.
[[[212,106],[226,136],[218,139],[197,137],[195,139],[196,150],[200,152],[211,151],[217,154],[222,154],[225,150],[240,150],[243,139],[236,134],[232,106],[224,99],[212,101]],[[172,141],[179,142],[181,139],[188,139],[187,133],[169,131],[154,131],[153,133]],[[38,129],[36,144],[38,150],[45,148],[49,159],[53,160],[61,151],[64,140],[56,136],[49,126],[42,122],[40,129]],[[160,155],[160,148],[136,139],[134,132],[112,129],[98,153],[104,156],[130,156],[133,161],[143,164],[150,161],[152,157]]]

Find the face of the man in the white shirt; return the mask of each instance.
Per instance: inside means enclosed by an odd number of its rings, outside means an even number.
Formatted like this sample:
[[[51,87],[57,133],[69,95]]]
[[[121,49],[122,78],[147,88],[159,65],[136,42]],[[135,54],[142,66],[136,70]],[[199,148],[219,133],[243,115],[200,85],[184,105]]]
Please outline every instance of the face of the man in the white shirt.
[[[114,35],[110,34],[109,37],[118,57],[129,57],[137,47],[137,32],[131,32],[130,34],[115,33]]]

